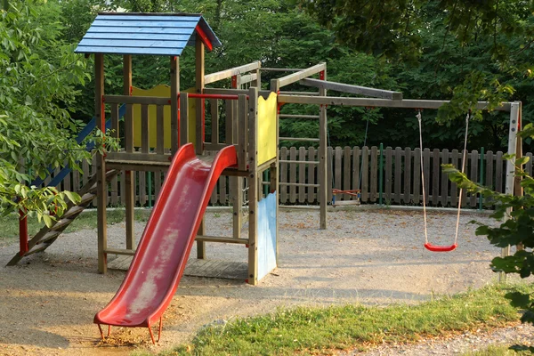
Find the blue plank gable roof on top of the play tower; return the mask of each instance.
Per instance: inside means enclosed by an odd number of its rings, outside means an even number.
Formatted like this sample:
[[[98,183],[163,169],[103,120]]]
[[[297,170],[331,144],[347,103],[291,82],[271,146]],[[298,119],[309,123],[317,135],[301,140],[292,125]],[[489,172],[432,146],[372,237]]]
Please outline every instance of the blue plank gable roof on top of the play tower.
[[[195,44],[197,26],[214,47],[221,45],[200,14],[99,13],[75,52],[179,56]]]

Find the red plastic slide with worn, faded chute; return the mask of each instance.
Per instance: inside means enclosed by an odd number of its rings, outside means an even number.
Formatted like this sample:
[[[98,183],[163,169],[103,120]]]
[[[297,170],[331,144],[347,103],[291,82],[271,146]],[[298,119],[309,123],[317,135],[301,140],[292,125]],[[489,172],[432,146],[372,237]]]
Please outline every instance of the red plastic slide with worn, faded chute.
[[[94,323],[147,327],[160,321],[182,279],[198,226],[217,179],[237,164],[234,146],[219,151],[213,164],[199,160],[191,144],[174,156],[125,280]],[[102,335],[103,336],[103,335]],[[152,341],[154,337],[150,330]]]

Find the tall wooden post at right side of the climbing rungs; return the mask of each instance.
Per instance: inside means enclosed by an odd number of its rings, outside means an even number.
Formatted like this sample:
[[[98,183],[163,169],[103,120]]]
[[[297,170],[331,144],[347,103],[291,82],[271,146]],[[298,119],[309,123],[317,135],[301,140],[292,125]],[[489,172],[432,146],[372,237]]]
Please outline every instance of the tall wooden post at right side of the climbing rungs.
[[[321,79],[327,80],[327,69],[325,66],[324,71],[321,72]],[[320,96],[327,96],[327,89],[319,89]],[[319,109],[319,196],[320,196],[320,229],[327,229],[327,203],[328,203],[328,187],[327,182],[327,134],[328,134],[328,121],[327,121],[327,107],[321,105]]]

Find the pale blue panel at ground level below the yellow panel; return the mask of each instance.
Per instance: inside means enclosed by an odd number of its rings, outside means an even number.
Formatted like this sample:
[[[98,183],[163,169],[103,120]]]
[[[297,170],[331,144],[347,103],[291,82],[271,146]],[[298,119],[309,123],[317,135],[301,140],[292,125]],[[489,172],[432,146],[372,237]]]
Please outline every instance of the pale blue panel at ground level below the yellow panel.
[[[276,192],[258,203],[258,280],[276,268]]]

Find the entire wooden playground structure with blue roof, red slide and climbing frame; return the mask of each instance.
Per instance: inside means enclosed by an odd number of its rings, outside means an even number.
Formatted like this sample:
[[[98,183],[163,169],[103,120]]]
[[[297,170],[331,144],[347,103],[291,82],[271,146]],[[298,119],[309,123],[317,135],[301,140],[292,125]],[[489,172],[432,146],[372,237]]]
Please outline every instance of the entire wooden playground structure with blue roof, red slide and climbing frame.
[[[180,88],[179,58],[186,45],[195,46],[196,85],[193,91]],[[247,247],[249,284],[255,285],[277,266],[279,140],[319,142],[318,159],[308,161],[319,171],[320,229],[327,228],[327,146],[328,106],[359,106],[400,109],[439,109],[447,101],[405,100],[402,94],[387,90],[346,85],[327,80],[327,65],[308,69],[267,69],[255,61],[233,69],[205,74],[206,47],[221,45],[219,39],[198,14],[101,13],[78,44],[77,53],[94,54],[95,117],[101,131],[107,126],[105,112],[111,113],[113,135],[124,142],[124,150],[97,154],[97,173],[86,184],[82,202],[71,205],[52,228],[44,228],[28,242],[21,234],[20,253],[44,251],[93,198],[98,210],[98,270],[105,273],[108,255],[134,255],[133,263],[117,295],[95,316],[99,325],[148,327],[159,320],[170,303],[182,277],[192,244],[197,242],[198,259],[206,258],[206,242],[232,243]],[[123,55],[123,93],[104,92],[104,55]],[[133,95],[132,55],[170,57],[168,95]],[[262,90],[262,71],[289,72],[271,79],[270,89]],[[319,78],[313,78],[318,76]],[[206,85],[231,79],[230,89]],[[317,88],[317,93],[284,92],[287,85]],[[248,88],[244,88],[248,86]],[[364,97],[328,96],[328,90]],[[193,92],[193,93],[191,93]],[[206,101],[211,118],[211,142],[206,142]],[[219,133],[219,108],[225,107],[224,132]],[[284,104],[319,106],[318,115],[287,115]],[[479,102],[476,108],[486,109]],[[508,153],[521,155],[521,103],[503,103],[498,110],[510,112]],[[134,111],[139,120],[134,120]],[[119,125],[124,111],[124,125]],[[154,115],[155,114],[155,115]],[[318,138],[279,137],[279,119],[319,120]],[[153,134],[155,132],[155,134]],[[286,160],[286,163],[294,163]],[[297,161],[297,163],[303,163]],[[506,193],[514,193],[514,160],[507,162]],[[106,199],[108,182],[125,171],[126,248],[108,247]],[[166,172],[139,247],[134,240],[134,171]],[[263,181],[269,172],[270,180]],[[214,183],[220,175],[231,177],[233,233],[231,237],[206,236],[203,214]],[[291,183],[284,183],[288,186]],[[268,193],[263,194],[263,187]],[[247,190],[247,194],[243,191]],[[355,194],[357,191],[336,191]],[[519,190],[517,194],[521,193]],[[247,197],[247,237],[241,236],[244,196]],[[507,255],[509,249],[503,250]],[[150,329],[150,336],[154,336]],[[102,333],[103,337],[103,333]]]

